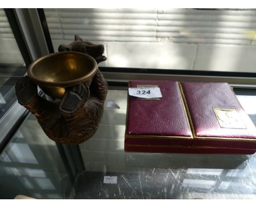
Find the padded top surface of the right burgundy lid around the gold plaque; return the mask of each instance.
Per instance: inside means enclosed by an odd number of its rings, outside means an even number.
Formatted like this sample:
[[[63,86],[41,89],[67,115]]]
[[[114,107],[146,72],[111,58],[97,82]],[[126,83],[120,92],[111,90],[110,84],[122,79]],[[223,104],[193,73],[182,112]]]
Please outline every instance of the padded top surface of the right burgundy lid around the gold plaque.
[[[254,124],[241,107],[234,91],[231,90],[228,83],[183,82],[181,85],[193,123],[195,138],[256,139]],[[237,117],[235,119],[238,122],[237,127],[220,126],[222,125],[222,121],[218,120],[214,109],[220,109],[221,111],[222,108],[236,111]],[[229,119],[232,121],[232,118]]]

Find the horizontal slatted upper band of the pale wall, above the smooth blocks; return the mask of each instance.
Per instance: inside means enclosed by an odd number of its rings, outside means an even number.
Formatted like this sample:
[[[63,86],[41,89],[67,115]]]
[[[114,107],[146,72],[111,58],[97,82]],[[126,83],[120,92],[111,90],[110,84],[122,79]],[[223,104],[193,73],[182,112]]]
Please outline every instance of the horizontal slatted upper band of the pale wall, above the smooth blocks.
[[[54,40],[251,45],[256,10],[45,9]],[[1,25],[0,25],[1,26]]]

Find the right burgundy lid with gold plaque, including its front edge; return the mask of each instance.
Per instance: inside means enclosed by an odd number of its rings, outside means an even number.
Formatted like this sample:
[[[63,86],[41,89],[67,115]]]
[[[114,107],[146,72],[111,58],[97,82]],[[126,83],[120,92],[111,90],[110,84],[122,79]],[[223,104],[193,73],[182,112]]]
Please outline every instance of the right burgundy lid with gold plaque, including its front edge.
[[[255,126],[228,83],[183,82],[181,87],[193,146],[256,150]]]

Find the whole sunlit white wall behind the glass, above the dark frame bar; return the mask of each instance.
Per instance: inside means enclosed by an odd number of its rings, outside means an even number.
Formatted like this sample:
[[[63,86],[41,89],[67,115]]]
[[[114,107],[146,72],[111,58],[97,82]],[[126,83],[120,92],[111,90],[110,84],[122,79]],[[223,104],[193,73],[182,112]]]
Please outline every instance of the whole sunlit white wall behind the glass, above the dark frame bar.
[[[256,10],[45,9],[55,51],[102,43],[101,66],[255,72]]]

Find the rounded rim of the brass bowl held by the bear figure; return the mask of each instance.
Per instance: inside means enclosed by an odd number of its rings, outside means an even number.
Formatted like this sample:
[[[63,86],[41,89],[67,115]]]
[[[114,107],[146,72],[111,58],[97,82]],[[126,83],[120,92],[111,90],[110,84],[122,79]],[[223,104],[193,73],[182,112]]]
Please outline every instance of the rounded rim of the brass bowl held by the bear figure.
[[[34,76],[34,74],[33,74],[34,65],[36,65],[38,62],[40,62],[43,59],[46,59],[46,58],[49,58],[49,57],[52,57],[52,56],[57,56],[59,54],[79,54],[79,55],[82,55],[82,56],[88,58],[89,60],[91,60],[92,70],[88,74],[86,74],[82,77],[79,77],[77,79],[72,79],[72,80],[69,80],[69,81],[62,81],[62,82],[43,81],[42,79],[39,79],[36,76]],[[34,62],[32,62],[30,64],[30,66],[28,66],[27,74],[28,74],[28,77],[30,77],[34,83],[36,83],[38,85],[41,85],[43,87],[71,87],[73,85],[81,84],[81,83],[87,81],[88,79],[92,78],[96,74],[97,69],[98,69],[98,64],[97,64],[96,60],[94,58],[92,58],[91,56],[89,56],[88,54],[80,53],[80,52],[74,52],[74,51],[63,51],[63,52],[50,53],[50,54],[47,54],[45,56],[42,56],[42,57],[38,58],[37,60],[34,60]]]

